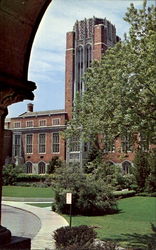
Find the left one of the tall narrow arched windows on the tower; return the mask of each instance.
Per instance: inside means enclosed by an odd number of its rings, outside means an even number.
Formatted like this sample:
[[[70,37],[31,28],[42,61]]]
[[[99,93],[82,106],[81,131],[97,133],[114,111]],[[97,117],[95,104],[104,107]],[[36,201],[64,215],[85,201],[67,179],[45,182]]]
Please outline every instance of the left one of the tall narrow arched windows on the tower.
[[[82,91],[83,75],[83,47],[79,46],[77,50],[77,91]]]

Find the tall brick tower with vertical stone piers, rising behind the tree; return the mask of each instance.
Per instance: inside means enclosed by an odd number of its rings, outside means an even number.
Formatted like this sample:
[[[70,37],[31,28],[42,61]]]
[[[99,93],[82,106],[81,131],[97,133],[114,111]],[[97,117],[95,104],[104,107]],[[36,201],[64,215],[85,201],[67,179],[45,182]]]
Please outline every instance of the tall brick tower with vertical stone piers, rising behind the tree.
[[[106,18],[76,21],[66,37],[65,111],[72,118],[76,92],[84,91],[82,75],[92,61],[101,60],[102,54],[119,41],[116,28]]]

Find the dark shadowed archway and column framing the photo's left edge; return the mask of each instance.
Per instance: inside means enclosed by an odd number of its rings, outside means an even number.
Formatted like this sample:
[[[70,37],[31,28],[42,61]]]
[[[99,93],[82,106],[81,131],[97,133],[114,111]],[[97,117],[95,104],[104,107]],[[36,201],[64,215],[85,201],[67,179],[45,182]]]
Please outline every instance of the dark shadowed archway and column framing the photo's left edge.
[[[0,0],[0,246],[11,241],[11,232],[1,226],[4,120],[9,105],[34,99],[36,84],[28,81],[30,53],[51,1]]]

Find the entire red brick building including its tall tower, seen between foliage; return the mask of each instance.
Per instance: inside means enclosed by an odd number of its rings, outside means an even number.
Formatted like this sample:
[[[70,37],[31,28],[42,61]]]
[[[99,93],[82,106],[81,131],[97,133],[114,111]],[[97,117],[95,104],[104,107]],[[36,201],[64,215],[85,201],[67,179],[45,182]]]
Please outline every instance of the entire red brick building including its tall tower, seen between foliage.
[[[107,19],[90,18],[76,21],[73,31],[66,36],[65,62],[65,110],[34,112],[29,104],[27,112],[6,121],[6,141],[12,139],[12,147],[5,147],[6,162],[10,156],[16,164],[25,163],[27,173],[45,173],[53,156],[68,162],[87,158],[88,146],[78,138],[72,138],[70,147],[61,138],[66,121],[72,118],[76,93],[85,91],[82,76],[93,60],[100,60],[105,51],[120,38],[116,28]],[[12,133],[12,135],[11,135]],[[110,164],[120,164],[127,173],[134,159],[134,145],[130,135],[118,137],[114,142],[104,141],[104,157]],[[146,138],[142,140],[148,150]]]

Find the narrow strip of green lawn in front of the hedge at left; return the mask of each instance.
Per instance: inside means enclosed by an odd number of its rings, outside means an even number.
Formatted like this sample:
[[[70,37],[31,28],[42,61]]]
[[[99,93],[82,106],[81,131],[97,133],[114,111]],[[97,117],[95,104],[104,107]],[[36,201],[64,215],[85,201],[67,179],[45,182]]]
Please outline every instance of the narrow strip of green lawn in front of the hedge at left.
[[[2,196],[22,198],[53,198],[54,191],[51,187],[19,187],[3,186]]]

